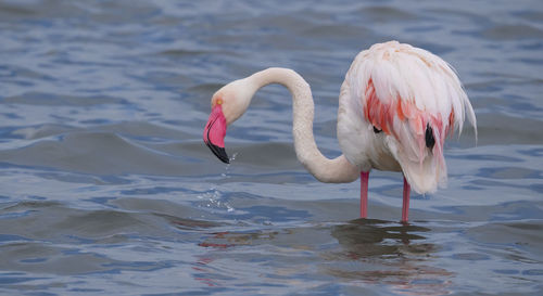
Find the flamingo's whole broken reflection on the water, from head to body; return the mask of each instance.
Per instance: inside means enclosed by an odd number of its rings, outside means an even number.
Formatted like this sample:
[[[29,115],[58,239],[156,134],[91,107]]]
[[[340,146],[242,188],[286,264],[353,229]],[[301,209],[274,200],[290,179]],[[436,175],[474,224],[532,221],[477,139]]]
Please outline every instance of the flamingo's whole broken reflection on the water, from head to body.
[[[209,285],[220,285],[220,275],[215,269],[224,266],[225,260],[236,260],[240,266],[250,265],[254,272],[262,272],[254,262],[269,260],[269,256],[274,260],[288,256],[286,261],[291,262],[291,268],[281,266],[270,273],[294,281],[311,265],[318,267],[317,274],[303,276],[327,275],[334,281],[363,287],[386,284],[394,293],[406,295],[450,294],[454,273],[432,267],[431,260],[439,247],[427,243],[422,235],[430,231],[415,224],[357,219],[342,224],[213,232],[199,246],[220,252],[220,255],[199,257],[194,263],[199,272],[194,276]],[[319,242],[330,237],[330,234],[336,241],[321,245],[304,243]],[[270,254],[270,248],[278,248],[275,250],[277,254]],[[290,250],[286,252],[286,248]],[[300,254],[294,256],[295,250],[311,256],[300,263]],[[247,256],[239,256],[240,253]],[[233,266],[228,268],[235,269]],[[274,278],[274,281],[277,282],[277,279]]]

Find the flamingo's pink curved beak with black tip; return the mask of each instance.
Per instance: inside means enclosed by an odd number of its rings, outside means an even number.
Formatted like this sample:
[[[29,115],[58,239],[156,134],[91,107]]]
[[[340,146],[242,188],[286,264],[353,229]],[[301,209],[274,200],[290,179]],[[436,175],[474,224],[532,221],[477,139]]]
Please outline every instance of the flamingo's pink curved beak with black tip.
[[[225,151],[226,118],[220,105],[215,105],[205,125],[203,140],[210,150],[223,163],[229,164],[230,159]]]

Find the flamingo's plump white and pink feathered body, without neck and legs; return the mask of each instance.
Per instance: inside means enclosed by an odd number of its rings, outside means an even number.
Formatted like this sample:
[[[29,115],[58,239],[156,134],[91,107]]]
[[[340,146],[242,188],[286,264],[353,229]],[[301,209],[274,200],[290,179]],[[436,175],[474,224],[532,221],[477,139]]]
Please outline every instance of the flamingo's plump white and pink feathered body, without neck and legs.
[[[434,192],[446,184],[445,138],[462,130],[466,113],[475,125],[471,104],[449,64],[390,41],[361,52],[345,75],[338,140],[361,170],[403,171],[416,192]]]

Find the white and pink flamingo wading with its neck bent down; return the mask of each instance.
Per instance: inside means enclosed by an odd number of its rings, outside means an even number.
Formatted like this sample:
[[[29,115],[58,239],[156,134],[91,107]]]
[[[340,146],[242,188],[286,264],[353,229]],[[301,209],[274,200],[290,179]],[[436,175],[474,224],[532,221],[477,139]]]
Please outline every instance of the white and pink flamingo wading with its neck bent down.
[[[372,44],[352,62],[340,88],[337,134],[342,154],[327,158],[313,134],[314,101],[296,72],[270,67],[231,81],[211,99],[204,143],[224,163],[227,127],[249,107],[256,91],[285,86],[292,95],[292,134],[298,159],[327,183],[361,179],[361,218],[367,218],[371,169],[403,173],[402,222],[408,222],[412,189],[433,193],[446,185],[445,138],[477,119],[454,68],[438,55],[399,41]]]

